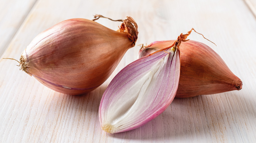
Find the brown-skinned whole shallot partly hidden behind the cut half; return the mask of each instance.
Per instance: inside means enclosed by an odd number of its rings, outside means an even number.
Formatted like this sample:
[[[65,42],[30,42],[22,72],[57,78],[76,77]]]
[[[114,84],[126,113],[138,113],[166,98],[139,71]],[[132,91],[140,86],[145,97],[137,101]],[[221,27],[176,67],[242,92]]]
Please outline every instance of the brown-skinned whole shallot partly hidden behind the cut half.
[[[153,42],[139,51],[139,57],[154,53],[174,42],[175,40]],[[175,97],[187,98],[242,89],[242,81],[209,46],[189,40],[181,43],[180,51],[181,73]]]

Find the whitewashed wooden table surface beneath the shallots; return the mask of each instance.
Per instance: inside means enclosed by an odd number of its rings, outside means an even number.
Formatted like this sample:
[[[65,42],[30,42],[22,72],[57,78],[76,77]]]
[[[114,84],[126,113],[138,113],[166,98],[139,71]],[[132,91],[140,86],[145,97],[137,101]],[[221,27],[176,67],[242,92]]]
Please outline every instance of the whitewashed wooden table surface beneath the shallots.
[[[256,0],[1,0],[0,142],[256,142]],[[17,62],[40,32],[70,18],[137,22],[136,44],[188,37],[209,45],[243,81],[243,89],[193,98],[175,98],[156,119],[118,134],[101,130],[98,107],[111,79],[138,59],[129,49],[109,79],[81,96],[55,92],[23,71]],[[120,22],[97,21],[117,30]]]

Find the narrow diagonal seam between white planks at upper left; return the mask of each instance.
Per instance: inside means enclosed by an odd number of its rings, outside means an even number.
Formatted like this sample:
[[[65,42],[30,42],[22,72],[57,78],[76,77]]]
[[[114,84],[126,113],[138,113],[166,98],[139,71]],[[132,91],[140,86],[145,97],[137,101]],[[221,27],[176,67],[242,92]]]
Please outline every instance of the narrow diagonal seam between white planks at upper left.
[[[29,8],[29,10],[26,12],[26,14],[24,15],[24,18],[20,21],[20,24],[17,26],[17,29],[15,30],[15,32],[13,33],[13,35],[11,36],[10,40],[7,42],[7,44],[4,46],[5,47],[5,50],[4,52],[2,53],[2,55],[0,55],[0,59],[3,58],[4,54],[6,53],[8,47],[10,46],[11,44],[11,41],[13,40],[13,38],[16,36],[17,32],[19,31],[19,29],[21,28],[22,24],[24,23],[24,21],[27,19],[29,13],[31,12],[32,8],[35,6],[35,3],[37,2],[38,0],[35,0],[34,3],[32,4],[32,6]]]

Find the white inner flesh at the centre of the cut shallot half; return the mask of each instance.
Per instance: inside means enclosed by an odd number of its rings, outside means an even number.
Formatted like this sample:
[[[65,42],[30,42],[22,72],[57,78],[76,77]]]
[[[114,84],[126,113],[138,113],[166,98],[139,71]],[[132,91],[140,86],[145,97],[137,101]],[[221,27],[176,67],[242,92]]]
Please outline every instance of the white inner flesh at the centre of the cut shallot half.
[[[168,97],[159,94],[159,90],[163,78],[168,77],[165,75],[165,68],[169,56],[167,54],[152,63],[149,70],[140,73],[120,88],[116,95],[112,95],[114,99],[103,112],[103,124],[111,125],[115,131],[122,130],[145,119],[146,114],[152,114],[156,106],[165,102]]]

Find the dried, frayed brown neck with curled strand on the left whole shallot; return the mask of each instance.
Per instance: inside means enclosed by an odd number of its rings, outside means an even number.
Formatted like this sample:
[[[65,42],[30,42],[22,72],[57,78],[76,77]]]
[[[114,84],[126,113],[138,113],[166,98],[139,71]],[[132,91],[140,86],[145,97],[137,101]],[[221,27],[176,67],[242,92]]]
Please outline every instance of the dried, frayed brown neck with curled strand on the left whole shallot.
[[[121,26],[119,27],[119,31],[122,32],[122,33],[125,33],[127,34],[128,38],[130,39],[130,41],[132,42],[132,46],[135,46],[135,42],[137,41],[138,39],[138,25],[137,23],[134,21],[134,19],[130,16],[127,16],[127,19],[125,20],[113,20],[111,18],[108,18],[108,17],[105,17],[105,16],[102,16],[102,15],[98,15],[96,14],[94,16],[94,19],[93,21],[99,19],[99,18],[107,18],[111,21],[120,21],[120,22],[123,22],[121,24]]]

